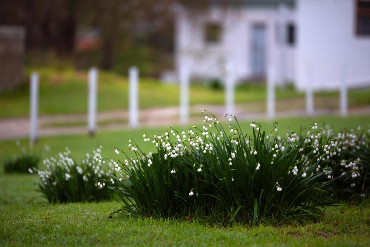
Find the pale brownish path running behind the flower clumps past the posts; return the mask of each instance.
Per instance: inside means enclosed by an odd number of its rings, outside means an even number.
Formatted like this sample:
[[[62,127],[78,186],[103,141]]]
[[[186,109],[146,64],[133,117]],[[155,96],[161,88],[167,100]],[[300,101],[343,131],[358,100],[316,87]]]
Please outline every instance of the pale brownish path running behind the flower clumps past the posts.
[[[291,102],[292,103],[292,102]],[[190,107],[190,123],[201,121],[201,112],[207,109],[221,119],[225,114],[224,106],[217,105],[195,105]],[[239,120],[260,120],[266,118],[264,112],[252,112],[253,104],[236,105],[235,115]],[[140,111],[140,127],[157,127],[179,125],[178,107],[165,107],[155,109],[144,109]],[[351,115],[370,115],[370,107],[350,109]],[[337,110],[315,109],[315,115],[338,114]],[[199,116],[198,116],[199,115]],[[280,110],[276,112],[276,117],[300,117],[306,116],[302,109],[289,111]],[[123,130],[128,128],[128,111],[110,111],[97,114],[97,131]],[[87,133],[86,114],[70,114],[58,116],[41,116],[39,118],[39,136],[55,136],[66,134]],[[24,138],[29,134],[29,119],[0,119],[0,140]]]

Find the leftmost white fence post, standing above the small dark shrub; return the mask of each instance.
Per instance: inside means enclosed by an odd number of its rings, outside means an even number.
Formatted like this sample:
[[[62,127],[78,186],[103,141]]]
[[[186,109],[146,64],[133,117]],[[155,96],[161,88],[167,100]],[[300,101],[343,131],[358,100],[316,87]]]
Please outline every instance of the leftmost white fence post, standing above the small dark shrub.
[[[38,115],[38,73],[31,73],[30,77],[30,146],[37,141]]]

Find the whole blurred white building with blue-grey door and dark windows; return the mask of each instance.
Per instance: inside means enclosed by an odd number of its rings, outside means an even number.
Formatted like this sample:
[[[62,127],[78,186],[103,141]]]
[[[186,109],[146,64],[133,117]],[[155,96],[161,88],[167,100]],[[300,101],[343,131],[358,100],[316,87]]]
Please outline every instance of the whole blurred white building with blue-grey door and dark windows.
[[[350,87],[370,85],[370,0],[229,3],[176,10],[177,72],[222,79],[231,66],[238,80],[261,79],[273,66],[276,83],[336,89],[345,66]]]

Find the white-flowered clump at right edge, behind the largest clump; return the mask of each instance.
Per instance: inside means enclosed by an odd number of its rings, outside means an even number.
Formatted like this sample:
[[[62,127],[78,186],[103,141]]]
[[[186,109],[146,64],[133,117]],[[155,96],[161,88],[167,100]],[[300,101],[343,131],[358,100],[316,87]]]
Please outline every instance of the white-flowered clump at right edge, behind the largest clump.
[[[310,143],[308,140],[312,140]],[[319,143],[326,142],[324,146]],[[338,199],[364,197],[369,193],[369,140],[363,133],[345,129],[338,134],[328,126],[311,134],[303,144],[305,152],[317,154],[316,171],[325,171],[328,177],[338,177],[332,187]]]

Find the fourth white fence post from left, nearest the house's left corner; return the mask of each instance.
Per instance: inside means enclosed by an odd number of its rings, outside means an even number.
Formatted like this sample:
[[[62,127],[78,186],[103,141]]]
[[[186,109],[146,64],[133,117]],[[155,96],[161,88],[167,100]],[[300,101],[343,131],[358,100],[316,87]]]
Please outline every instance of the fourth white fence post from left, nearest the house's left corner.
[[[179,71],[180,80],[180,123],[189,121],[189,68],[181,64]]]

